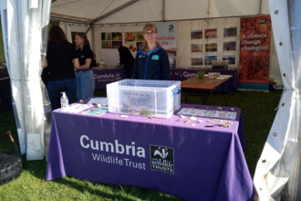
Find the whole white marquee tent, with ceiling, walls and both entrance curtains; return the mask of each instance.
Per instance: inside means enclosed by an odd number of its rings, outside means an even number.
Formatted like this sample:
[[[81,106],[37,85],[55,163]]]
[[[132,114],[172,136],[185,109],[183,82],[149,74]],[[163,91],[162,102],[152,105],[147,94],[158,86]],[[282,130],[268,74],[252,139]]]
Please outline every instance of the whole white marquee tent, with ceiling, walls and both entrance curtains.
[[[49,17],[71,40],[70,33],[88,32],[98,59],[99,35],[115,27],[145,22],[178,22],[178,38],[203,26],[237,25],[240,17],[270,15],[275,43],[270,78],[285,87],[275,122],[258,161],[254,185],[260,200],[297,200],[300,166],[301,2],[299,0],[0,0],[5,58],[11,77],[16,125],[22,153],[28,160],[43,158],[44,131],[49,127],[49,101],[39,76],[47,49]],[[50,16],[51,15],[51,16]],[[218,42],[218,41],[217,41]],[[180,64],[186,50],[178,39]],[[275,49],[275,52],[273,52]],[[279,67],[278,68],[278,63]],[[237,66],[238,67],[238,66]],[[44,119],[43,119],[44,116]]]

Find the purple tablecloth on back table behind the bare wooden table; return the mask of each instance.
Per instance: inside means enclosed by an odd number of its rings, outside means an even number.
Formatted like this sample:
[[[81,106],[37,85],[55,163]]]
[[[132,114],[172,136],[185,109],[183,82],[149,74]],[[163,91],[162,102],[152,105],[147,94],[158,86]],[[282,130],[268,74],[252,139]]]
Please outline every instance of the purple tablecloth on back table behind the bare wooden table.
[[[186,80],[198,76],[197,71],[199,69],[171,69],[171,80]],[[233,79],[228,79],[224,82],[224,91],[223,86],[217,87],[214,91],[218,92],[228,92],[231,94],[236,93],[237,87],[239,85],[239,77],[237,69],[205,69],[205,73],[208,72],[219,72],[221,75],[232,75]]]

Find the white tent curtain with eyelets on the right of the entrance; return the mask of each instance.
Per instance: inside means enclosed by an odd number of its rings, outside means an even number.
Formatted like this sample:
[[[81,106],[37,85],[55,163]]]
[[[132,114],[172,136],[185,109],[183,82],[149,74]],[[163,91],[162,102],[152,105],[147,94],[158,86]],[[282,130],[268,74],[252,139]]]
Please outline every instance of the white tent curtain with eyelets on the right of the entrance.
[[[256,166],[254,185],[260,200],[280,201],[281,196],[300,200],[301,2],[269,0],[269,5],[285,90]]]

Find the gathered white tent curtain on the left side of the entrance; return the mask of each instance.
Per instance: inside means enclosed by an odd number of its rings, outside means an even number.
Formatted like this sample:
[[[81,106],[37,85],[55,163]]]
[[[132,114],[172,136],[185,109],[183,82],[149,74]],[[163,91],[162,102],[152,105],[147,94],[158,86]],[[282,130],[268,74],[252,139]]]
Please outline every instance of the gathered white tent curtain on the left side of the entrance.
[[[51,112],[40,79],[47,53],[51,2],[1,0],[0,4],[21,153],[27,153],[27,160],[41,160],[44,129],[50,126],[47,117]]]

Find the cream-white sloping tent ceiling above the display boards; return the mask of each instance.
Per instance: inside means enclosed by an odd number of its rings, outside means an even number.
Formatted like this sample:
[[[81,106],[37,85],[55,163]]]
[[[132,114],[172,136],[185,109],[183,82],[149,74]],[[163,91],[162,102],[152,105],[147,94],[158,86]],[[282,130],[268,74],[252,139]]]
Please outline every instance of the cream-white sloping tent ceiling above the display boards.
[[[53,0],[51,18],[96,24],[268,15],[268,0]]]

